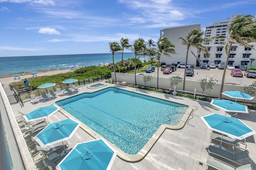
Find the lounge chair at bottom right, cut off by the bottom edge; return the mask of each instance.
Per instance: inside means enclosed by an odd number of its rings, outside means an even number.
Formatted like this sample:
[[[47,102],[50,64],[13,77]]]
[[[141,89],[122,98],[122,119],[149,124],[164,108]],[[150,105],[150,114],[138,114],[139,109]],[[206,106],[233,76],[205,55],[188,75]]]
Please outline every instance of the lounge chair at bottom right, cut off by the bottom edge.
[[[218,170],[252,170],[251,164],[242,166],[231,165],[212,156],[208,156],[206,165]]]

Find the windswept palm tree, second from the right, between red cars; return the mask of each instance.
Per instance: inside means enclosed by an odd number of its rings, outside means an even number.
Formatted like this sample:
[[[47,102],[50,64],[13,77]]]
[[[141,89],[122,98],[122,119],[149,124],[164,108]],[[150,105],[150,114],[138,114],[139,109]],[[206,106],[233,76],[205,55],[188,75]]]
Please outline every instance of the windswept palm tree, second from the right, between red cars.
[[[207,48],[202,46],[202,43],[205,41],[203,39],[204,32],[200,31],[199,29],[193,29],[186,35],[186,38],[179,37],[179,39],[182,40],[182,45],[187,46],[187,55],[186,55],[186,64],[185,64],[185,70],[184,70],[184,79],[183,79],[183,90],[185,90],[185,82],[186,82],[186,68],[188,64],[188,51],[196,57],[196,55],[193,53],[193,51],[190,49],[190,47],[195,47],[198,50],[203,51],[206,53],[208,56],[210,55]]]

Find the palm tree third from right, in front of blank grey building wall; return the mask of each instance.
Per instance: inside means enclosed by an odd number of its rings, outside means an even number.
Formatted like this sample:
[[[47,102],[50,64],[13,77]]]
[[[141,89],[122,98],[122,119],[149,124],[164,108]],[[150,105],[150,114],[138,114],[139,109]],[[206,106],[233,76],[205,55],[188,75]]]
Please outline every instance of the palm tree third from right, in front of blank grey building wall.
[[[165,55],[168,57],[171,57],[170,54],[176,54],[176,51],[173,49],[175,47],[174,43],[170,41],[170,39],[166,37],[160,37],[156,43],[156,54],[158,58],[158,64],[157,64],[157,86],[158,89],[158,79],[159,79],[159,65],[160,65],[160,57],[161,55]]]

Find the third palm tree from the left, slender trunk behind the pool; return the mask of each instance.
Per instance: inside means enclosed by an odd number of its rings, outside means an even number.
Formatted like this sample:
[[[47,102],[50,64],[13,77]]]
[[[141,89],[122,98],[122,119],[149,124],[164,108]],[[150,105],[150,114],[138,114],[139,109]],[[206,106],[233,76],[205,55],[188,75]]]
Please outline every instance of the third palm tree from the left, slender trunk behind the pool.
[[[142,38],[136,39],[133,43],[133,45],[129,48],[130,51],[134,52],[135,59],[134,59],[134,77],[135,77],[135,86],[137,85],[136,82],[136,57],[137,55],[140,55],[142,51],[146,48],[146,45],[144,44],[145,40]]]

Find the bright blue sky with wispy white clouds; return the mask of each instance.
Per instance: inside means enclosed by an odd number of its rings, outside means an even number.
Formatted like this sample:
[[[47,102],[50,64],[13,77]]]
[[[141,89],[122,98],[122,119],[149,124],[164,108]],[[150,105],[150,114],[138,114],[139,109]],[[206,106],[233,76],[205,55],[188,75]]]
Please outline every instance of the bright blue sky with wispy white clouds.
[[[157,41],[160,29],[233,14],[255,16],[256,1],[0,0],[0,57],[109,53],[122,37]]]

